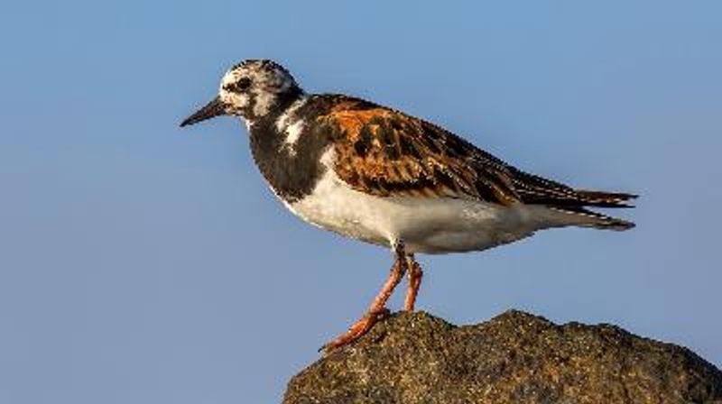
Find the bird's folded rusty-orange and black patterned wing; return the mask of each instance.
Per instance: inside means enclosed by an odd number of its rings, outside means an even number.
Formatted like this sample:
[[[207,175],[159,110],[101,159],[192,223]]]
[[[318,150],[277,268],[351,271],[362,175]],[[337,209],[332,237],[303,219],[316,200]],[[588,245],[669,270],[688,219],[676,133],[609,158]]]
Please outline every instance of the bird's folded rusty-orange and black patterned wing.
[[[508,165],[421,119],[347,98],[319,124],[334,133],[338,178],[356,190],[380,197],[521,201]]]

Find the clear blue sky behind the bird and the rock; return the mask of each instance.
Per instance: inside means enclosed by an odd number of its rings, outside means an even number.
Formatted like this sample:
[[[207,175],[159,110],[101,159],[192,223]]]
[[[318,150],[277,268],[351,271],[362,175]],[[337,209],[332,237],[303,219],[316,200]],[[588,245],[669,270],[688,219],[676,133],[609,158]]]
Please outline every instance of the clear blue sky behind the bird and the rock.
[[[277,402],[361,315],[390,253],[287,212],[236,120],[178,128],[246,58],[643,196],[631,232],[421,256],[421,309],[609,322],[722,365],[722,4],[340,3],[3,5],[0,402]]]

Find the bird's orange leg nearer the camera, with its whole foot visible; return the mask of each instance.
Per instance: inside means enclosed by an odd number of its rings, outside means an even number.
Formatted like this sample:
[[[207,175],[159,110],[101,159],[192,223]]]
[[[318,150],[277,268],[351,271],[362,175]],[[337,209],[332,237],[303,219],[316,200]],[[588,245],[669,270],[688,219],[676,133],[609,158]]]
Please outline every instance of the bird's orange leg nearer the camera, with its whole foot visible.
[[[389,310],[386,308],[386,301],[391,298],[393,289],[395,289],[399,282],[403,280],[403,275],[406,272],[408,265],[406,262],[406,254],[403,253],[403,244],[400,243],[394,250],[396,261],[393,262],[391,273],[384,283],[384,287],[381,291],[379,291],[378,295],[376,295],[374,301],[371,303],[371,306],[368,308],[366,315],[361,317],[361,319],[356,321],[353,326],[348,328],[346,333],[338,335],[338,337],[336,337],[333,341],[323,345],[320,350],[329,353],[339,346],[350,344],[362,335],[365,335],[378,321],[388,316]]]

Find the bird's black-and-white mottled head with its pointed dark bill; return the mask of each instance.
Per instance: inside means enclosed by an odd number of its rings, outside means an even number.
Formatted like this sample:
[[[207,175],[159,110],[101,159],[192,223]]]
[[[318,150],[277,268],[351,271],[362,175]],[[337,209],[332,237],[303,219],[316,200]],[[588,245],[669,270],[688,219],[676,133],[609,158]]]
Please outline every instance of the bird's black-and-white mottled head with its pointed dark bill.
[[[288,106],[303,94],[291,73],[273,60],[244,60],[220,80],[218,96],[186,118],[180,126],[219,115],[253,122]]]

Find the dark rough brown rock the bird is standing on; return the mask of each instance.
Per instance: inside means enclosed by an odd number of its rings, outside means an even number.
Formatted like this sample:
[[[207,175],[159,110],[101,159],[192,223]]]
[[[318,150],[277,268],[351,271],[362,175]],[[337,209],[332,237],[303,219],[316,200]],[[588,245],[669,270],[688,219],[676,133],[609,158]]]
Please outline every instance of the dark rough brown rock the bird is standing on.
[[[294,376],[284,404],[722,403],[722,372],[617,326],[400,313]]]

